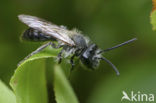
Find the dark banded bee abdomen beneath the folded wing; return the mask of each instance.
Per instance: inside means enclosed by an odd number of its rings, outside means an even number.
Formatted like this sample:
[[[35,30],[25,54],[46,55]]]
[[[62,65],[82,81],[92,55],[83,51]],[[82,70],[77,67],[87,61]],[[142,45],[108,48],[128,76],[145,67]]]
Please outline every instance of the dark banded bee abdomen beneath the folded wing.
[[[23,33],[22,39],[29,40],[29,41],[47,41],[47,40],[55,41],[56,40],[55,38],[45,35],[41,31],[33,29],[33,28],[28,28]]]

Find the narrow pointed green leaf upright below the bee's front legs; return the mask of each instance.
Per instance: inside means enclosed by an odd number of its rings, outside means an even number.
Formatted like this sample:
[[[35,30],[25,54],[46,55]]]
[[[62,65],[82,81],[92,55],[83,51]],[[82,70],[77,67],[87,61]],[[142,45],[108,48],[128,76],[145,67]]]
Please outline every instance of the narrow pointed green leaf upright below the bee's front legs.
[[[68,80],[58,65],[54,67],[54,92],[57,103],[78,103]]]

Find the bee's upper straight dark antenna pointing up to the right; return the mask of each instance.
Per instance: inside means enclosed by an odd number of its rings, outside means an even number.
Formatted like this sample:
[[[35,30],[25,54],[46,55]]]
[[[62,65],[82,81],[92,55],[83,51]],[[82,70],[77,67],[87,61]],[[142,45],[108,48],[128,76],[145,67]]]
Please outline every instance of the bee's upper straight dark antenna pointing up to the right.
[[[111,48],[107,48],[107,49],[105,49],[105,50],[102,50],[102,51],[100,51],[98,54],[101,54],[101,53],[103,53],[103,52],[107,52],[107,51],[116,49],[116,48],[121,47],[121,46],[123,46],[123,45],[126,45],[126,44],[128,44],[128,43],[131,43],[131,42],[133,42],[133,41],[135,41],[135,40],[137,40],[137,38],[130,39],[130,40],[125,41],[125,42],[123,42],[123,43],[121,43],[121,44],[118,44],[118,45],[116,45],[116,46],[113,46],[113,47],[111,47]]]

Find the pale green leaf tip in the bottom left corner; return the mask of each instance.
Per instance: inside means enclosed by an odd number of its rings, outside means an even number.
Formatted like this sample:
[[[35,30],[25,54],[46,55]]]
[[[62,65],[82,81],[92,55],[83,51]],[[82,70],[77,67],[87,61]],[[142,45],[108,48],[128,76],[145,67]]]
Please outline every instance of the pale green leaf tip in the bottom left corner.
[[[16,103],[14,93],[0,80],[0,103]]]

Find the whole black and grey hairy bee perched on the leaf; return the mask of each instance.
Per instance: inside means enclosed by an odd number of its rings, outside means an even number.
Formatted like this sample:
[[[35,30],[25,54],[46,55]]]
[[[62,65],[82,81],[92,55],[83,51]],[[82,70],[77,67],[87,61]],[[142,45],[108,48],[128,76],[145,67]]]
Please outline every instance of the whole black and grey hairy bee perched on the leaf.
[[[100,61],[103,60],[110,64],[110,66],[115,70],[116,74],[119,75],[120,73],[116,66],[108,59],[103,57],[102,53],[108,52],[136,40],[136,38],[133,38],[114,47],[101,50],[95,43],[91,42],[88,37],[82,35],[82,33],[76,29],[68,30],[65,26],[57,26],[35,16],[22,14],[19,15],[18,18],[21,22],[29,27],[23,33],[22,39],[39,42],[48,41],[46,44],[40,46],[38,49],[25,57],[19,64],[28,59],[30,56],[42,51],[47,46],[52,46],[56,49],[62,48],[57,56],[58,63],[61,63],[62,58],[69,56],[71,57],[71,70],[73,70],[75,65],[74,58],[78,57],[82,64],[91,70],[96,69],[99,66]],[[57,42],[57,44],[55,42]]]

